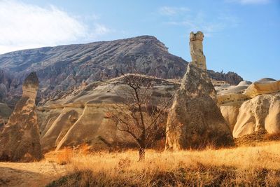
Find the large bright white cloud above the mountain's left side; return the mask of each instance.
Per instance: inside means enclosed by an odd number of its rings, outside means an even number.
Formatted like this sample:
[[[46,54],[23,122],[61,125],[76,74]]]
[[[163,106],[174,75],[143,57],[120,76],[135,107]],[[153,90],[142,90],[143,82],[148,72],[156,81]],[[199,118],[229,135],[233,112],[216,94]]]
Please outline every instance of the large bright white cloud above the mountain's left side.
[[[109,32],[105,25],[95,23],[89,27],[55,6],[42,8],[0,0],[0,54],[97,39]]]

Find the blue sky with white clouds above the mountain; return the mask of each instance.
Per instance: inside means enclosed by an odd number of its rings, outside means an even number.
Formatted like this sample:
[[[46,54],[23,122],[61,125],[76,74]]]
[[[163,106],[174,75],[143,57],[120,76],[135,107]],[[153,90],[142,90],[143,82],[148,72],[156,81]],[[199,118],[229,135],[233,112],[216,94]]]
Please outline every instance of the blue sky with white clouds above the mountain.
[[[207,69],[280,79],[280,0],[0,0],[0,25],[0,54],[151,35],[188,62],[200,30]]]

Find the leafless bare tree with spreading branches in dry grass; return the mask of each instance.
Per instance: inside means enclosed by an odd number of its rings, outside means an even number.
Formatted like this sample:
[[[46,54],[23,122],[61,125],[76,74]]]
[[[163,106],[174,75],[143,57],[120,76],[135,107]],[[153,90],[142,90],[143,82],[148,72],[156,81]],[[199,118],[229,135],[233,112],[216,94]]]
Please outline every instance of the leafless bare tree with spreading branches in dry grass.
[[[123,102],[108,113],[118,130],[127,132],[139,147],[139,160],[145,159],[145,149],[155,143],[157,137],[165,135],[167,109],[174,95],[155,99],[153,78],[140,74],[126,74],[122,77],[123,92],[117,95]]]

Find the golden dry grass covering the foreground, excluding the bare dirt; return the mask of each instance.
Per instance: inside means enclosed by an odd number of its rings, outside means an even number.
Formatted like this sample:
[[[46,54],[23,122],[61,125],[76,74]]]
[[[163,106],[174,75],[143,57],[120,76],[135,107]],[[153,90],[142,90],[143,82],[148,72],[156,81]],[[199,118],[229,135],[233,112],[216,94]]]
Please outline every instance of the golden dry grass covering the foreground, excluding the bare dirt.
[[[280,142],[176,153],[146,151],[138,162],[137,151],[89,153],[75,151],[69,176],[55,186],[204,186],[280,185]],[[48,156],[47,156],[48,157]],[[87,183],[87,185],[84,185]]]

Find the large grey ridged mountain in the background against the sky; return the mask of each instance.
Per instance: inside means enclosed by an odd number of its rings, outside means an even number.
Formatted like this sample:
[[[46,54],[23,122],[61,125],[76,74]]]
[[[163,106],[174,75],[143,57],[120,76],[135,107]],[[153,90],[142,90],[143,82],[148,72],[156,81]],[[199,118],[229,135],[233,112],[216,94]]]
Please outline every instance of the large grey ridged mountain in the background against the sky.
[[[0,55],[0,102],[13,105],[21,95],[24,78],[36,71],[40,81],[39,100],[78,88],[82,83],[106,80],[135,72],[159,78],[182,78],[188,62],[168,52],[154,36],[116,41],[19,50]],[[3,76],[2,76],[3,75]],[[211,78],[237,84],[237,74],[209,71]],[[2,77],[2,78],[1,78]]]

